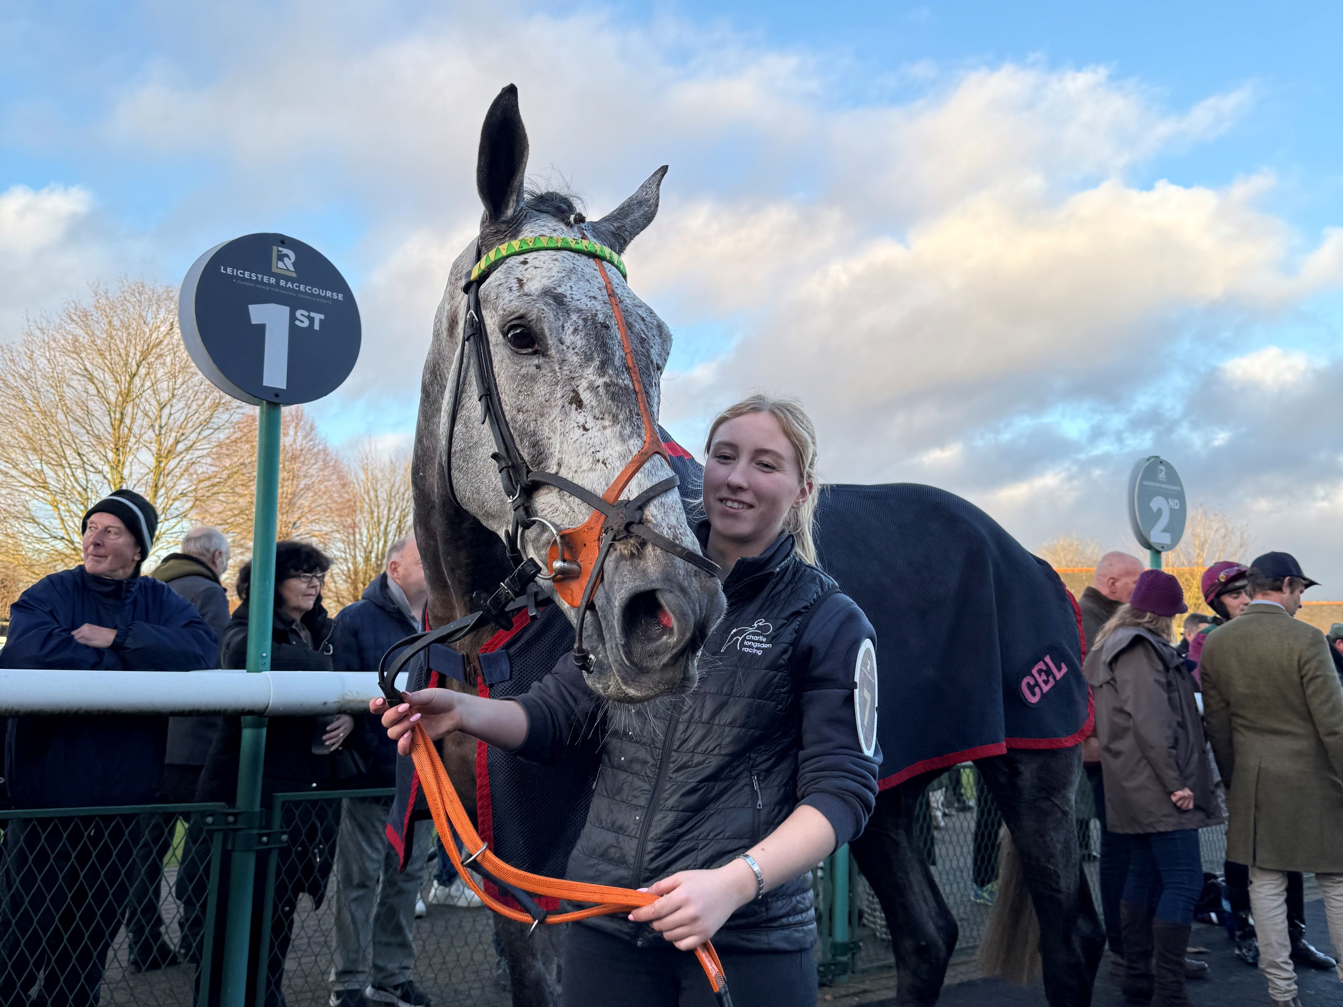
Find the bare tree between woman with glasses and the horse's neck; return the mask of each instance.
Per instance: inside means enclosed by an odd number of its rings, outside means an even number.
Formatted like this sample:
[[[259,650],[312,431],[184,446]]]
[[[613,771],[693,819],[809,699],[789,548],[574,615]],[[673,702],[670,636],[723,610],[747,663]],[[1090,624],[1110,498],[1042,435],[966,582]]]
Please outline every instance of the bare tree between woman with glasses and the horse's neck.
[[[410,534],[414,514],[410,455],[385,455],[365,443],[355,457],[346,489],[340,533],[333,542],[336,565],[326,580],[329,608],[357,602],[364,587],[381,572],[392,542]]]

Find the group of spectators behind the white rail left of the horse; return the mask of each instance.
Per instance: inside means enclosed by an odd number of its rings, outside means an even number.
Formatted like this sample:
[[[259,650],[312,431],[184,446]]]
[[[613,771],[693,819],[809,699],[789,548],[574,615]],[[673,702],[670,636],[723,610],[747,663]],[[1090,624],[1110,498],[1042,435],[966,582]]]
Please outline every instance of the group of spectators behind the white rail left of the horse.
[[[0,667],[161,670],[243,669],[248,646],[251,564],[236,579],[230,614],[222,577],[227,538],[192,529],[180,549],[145,576],[157,513],[140,494],[117,490],[85,514],[83,564],[38,581],[12,606]],[[360,602],[332,619],[322,607],[330,560],[306,542],[275,546],[270,666],[294,671],[376,670],[383,654],[420,627],[428,589],[414,537],[396,541],[385,569]],[[4,783],[20,812],[74,808],[60,816],[16,816],[4,830],[0,877],[0,1006],[98,1003],[109,951],[125,928],[128,964],[148,972],[203,957],[222,967],[223,912],[207,934],[211,885],[226,892],[230,858],[211,863],[200,814],[172,806],[219,802],[238,792],[240,717],[11,717]],[[266,726],[262,807],[277,794],[369,791],[395,785],[396,747],[376,717],[273,717]],[[114,806],[164,806],[163,814],[97,814]],[[424,871],[399,870],[384,836],[391,798],[317,802],[287,823],[274,877],[258,870],[254,916],[269,901],[269,926],[252,933],[248,976],[258,1003],[283,1004],[281,983],[298,898],[314,905],[337,871],[334,960],[329,984],[337,1007],[427,1007],[412,979],[414,920],[426,912]],[[175,894],[181,912],[176,947],[160,910],[164,862],[184,839]],[[418,823],[428,849],[432,823]],[[439,853],[430,904],[474,908],[475,896]],[[211,878],[211,873],[215,877]],[[214,936],[214,940],[207,937]],[[265,953],[258,953],[258,952]],[[216,972],[218,975],[218,972]],[[251,1003],[248,998],[248,1003]]]

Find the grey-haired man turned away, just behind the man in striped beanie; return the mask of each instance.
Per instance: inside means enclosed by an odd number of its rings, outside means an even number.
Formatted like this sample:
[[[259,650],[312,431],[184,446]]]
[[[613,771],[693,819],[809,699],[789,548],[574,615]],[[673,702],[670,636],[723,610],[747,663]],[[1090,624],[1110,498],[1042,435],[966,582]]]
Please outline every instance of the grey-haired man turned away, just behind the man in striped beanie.
[[[228,626],[228,595],[220,583],[228,569],[228,540],[218,528],[203,525],[187,532],[181,552],[164,557],[152,576],[191,602],[205,624],[223,639]],[[158,799],[164,804],[189,804],[196,796],[200,771],[219,730],[219,717],[169,717],[168,755]],[[148,972],[177,963],[177,952],[164,940],[158,912],[164,857],[172,845],[179,815],[145,818],[144,839],[126,901],[126,936],[130,939],[130,971]]]

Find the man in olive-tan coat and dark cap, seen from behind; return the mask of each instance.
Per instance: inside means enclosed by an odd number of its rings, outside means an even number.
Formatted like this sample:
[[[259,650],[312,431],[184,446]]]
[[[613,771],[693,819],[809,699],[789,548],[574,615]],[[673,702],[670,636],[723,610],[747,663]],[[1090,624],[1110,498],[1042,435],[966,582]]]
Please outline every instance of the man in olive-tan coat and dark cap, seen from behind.
[[[1299,1003],[1287,871],[1315,874],[1343,947],[1343,686],[1324,635],[1293,619],[1313,583],[1288,553],[1254,560],[1254,600],[1209,635],[1201,659],[1207,736],[1229,789],[1226,857],[1249,865],[1260,969],[1284,1006]]]

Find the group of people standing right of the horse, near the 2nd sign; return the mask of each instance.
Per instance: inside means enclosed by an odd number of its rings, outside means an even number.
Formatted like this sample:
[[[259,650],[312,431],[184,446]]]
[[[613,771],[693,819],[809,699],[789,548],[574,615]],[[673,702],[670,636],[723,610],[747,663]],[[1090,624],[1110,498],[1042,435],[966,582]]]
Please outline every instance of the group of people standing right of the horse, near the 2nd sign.
[[[1316,584],[1285,552],[1202,575],[1211,618],[1179,580],[1109,553],[1078,602],[1096,730],[1084,748],[1101,824],[1101,904],[1124,995],[1186,1007],[1195,912],[1223,917],[1273,1004],[1299,1006],[1295,965],[1343,967],[1307,939],[1304,877],[1343,948],[1343,624],[1295,619]],[[1226,822],[1221,878],[1198,830]],[[1210,883],[1209,883],[1210,882]]]

